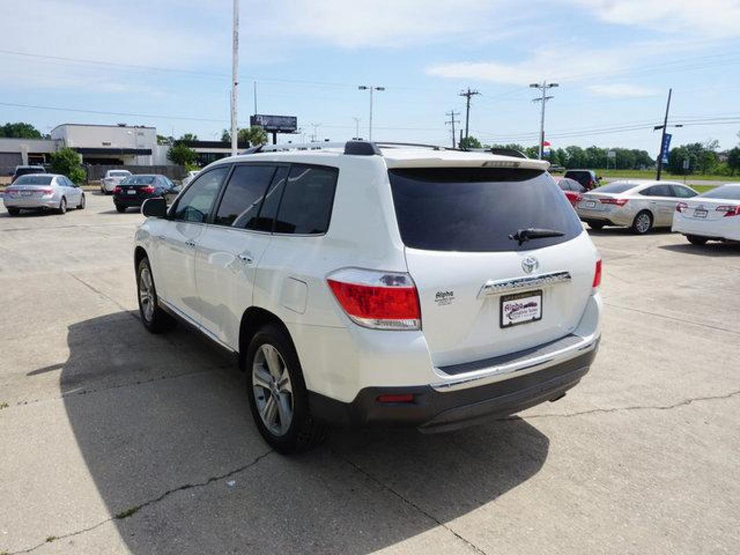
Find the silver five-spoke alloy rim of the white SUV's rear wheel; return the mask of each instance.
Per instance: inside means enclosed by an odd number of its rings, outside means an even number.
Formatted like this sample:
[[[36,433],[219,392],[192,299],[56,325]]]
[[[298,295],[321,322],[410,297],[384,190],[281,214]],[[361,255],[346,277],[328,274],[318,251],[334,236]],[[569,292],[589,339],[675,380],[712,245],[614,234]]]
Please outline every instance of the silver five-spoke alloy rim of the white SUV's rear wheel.
[[[269,343],[255,353],[252,390],[262,423],[271,434],[285,435],[293,420],[293,386],[285,360]]]

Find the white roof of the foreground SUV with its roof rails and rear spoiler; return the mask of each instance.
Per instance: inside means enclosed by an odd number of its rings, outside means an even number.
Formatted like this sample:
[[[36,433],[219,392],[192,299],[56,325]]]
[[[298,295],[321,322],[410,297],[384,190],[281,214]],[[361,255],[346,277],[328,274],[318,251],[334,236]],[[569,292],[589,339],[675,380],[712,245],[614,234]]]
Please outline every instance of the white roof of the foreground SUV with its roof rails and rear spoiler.
[[[491,166],[522,169],[548,169],[547,161],[531,160],[515,156],[491,154],[490,152],[470,152],[465,150],[445,149],[431,145],[371,143],[369,141],[349,141],[347,143],[306,143],[278,144],[249,149],[242,154],[221,158],[215,164],[247,159],[255,155],[270,155],[270,158],[291,158],[295,156],[313,157],[346,155],[364,156],[380,155],[388,168],[417,166]]]

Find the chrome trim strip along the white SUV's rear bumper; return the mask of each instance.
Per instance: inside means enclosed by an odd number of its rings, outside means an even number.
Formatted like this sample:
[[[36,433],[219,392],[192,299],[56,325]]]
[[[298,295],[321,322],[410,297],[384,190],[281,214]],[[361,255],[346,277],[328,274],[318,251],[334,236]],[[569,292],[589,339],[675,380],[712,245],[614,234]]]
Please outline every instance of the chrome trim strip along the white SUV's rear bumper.
[[[529,374],[531,372],[542,369],[544,366],[548,366],[551,363],[562,363],[571,358],[575,358],[584,351],[593,351],[596,349],[598,343],[598,337],[590,335],[583,337],[583,340],[576,345],[561,349],[554,353],[548,353],[542,357],[533,357],[525,361],[519,361],[518,363],[502,364],[500,366],[491,366],[473,372],[469,372],[463,377],[454,377],[444,382],[430,383],[429,385],[436,391],[457,391],[458,389],[465,389],[468,387],[485,386],[488,383],[499,382],[511,377],[511,374]],[[443,377],[443,371],[439,368],[434,369],[439,377]]]

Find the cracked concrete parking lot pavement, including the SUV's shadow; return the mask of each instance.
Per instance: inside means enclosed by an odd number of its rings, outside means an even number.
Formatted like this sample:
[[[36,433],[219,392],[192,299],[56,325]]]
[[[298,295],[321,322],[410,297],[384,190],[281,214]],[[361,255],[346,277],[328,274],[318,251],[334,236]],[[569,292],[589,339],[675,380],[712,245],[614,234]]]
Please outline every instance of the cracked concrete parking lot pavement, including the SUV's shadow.
[[[0,553],[737,553],[740,247],[591,232],[602,349],[567,397],[286,458],[230,360],[139,323],[140,220],[0,214]]]

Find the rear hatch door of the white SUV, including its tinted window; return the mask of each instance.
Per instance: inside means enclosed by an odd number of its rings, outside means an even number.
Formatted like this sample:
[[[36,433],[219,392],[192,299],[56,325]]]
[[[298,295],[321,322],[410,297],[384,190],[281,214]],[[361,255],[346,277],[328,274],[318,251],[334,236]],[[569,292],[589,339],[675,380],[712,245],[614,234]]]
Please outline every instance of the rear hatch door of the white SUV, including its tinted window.
[[[436,167],[389,177],[435,365],[521,351],[576,328],[597,254],[548,174]],[[527,228],[562,235],[509,238]]]

